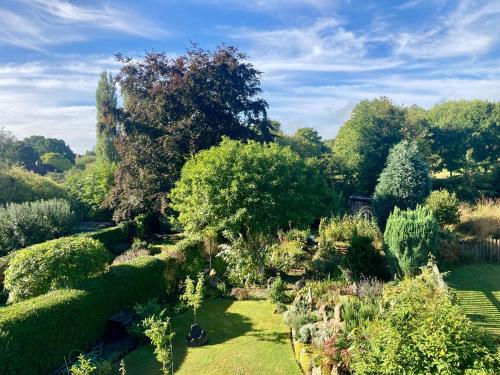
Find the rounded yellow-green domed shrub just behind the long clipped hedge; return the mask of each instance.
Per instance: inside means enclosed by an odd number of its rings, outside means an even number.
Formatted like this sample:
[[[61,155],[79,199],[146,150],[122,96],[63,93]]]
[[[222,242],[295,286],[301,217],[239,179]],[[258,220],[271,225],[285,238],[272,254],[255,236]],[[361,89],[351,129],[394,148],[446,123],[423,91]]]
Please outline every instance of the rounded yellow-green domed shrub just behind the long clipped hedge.
[[[9,302],[77,286],[104,271],[111,254],[96,240],[65,237],[17,251],[5,271]]]

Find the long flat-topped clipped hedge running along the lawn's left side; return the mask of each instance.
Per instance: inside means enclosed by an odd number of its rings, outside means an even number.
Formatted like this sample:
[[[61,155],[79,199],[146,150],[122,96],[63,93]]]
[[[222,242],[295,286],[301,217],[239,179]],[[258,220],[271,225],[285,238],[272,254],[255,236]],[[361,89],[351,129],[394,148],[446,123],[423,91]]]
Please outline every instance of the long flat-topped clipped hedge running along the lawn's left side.
[[[51,373],[72,350],[89,349],[111,315],[174,290],[179,268],[174,262],[163,254],[139,257],[112,266],[80,290],[58,290],[0,308],[0,374]]]

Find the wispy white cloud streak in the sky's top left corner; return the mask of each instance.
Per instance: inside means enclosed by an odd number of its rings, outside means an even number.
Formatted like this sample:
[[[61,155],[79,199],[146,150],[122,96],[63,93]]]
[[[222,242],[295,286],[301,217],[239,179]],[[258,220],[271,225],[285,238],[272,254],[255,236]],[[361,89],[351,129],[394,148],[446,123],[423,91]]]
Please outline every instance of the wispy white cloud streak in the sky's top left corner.
[[[87,40],[99,30],[155,39],[168,32],[133,10],[76,5],[68,0],[18,0],[18,12],[0,7],[0,43],[44,51]]]

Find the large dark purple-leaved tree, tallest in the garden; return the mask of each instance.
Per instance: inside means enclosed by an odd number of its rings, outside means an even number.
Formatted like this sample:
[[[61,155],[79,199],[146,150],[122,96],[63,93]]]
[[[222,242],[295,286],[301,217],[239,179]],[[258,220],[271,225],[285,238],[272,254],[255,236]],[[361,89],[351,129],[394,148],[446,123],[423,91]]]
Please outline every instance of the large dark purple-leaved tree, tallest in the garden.
[[[184,162],[222,136],[272,138],[260,72],[235,48],[210,52],[194,46],[174,59],[156,52],[118,59],[121,162],[108,199],[115,219],[165,209]]]

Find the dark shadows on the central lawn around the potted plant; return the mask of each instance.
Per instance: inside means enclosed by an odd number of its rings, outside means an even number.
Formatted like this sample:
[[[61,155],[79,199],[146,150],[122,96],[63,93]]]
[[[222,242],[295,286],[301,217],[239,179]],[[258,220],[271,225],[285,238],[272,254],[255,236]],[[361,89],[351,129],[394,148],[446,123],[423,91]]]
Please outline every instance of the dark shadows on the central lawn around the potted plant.
[[[227,312],[233,304],[231,299],[216,299],[205,301],[198,312],[198,323],[208,333],[208,343],[205,346],[222,344],[235,337],[242,336],[252,330],[249,319],[243,315]],[[193,324],[192,311],[186,312],[172,319],[174,337],[174,371],[183,364],[188,347],[187,336]],[[197,350],[192,348],[191,350]]]

